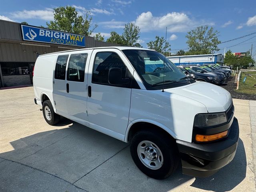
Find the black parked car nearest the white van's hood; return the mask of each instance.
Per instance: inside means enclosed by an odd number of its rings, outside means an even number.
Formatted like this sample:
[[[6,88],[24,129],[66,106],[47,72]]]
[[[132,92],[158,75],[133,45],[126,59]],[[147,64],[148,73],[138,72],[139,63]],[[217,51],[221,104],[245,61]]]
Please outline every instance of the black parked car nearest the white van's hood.
[[[186,74],[189,78],[192,78],[196,81],[204,81],[212,84],[216,84],[216,82],[219,82],[218,75],[216,74],[204,74],[204,73],[197,73],[194,70],[192,70],[188,66],[178,66],[178,68]]]

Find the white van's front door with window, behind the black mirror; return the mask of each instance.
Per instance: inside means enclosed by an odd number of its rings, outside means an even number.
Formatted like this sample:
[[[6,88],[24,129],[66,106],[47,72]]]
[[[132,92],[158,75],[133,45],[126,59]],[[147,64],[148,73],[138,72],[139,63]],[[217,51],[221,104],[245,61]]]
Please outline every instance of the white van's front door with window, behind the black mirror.
[[[120,68],[122,78],[132,79],[132,69],[124,64],[120,50],[104,49],[92,52],[88,71],[88,115],[90,127],[124,140],[128,126],[131,88],[113,86],[108,82],[110,68]],[[127,61],[126,61],[127,62]]]

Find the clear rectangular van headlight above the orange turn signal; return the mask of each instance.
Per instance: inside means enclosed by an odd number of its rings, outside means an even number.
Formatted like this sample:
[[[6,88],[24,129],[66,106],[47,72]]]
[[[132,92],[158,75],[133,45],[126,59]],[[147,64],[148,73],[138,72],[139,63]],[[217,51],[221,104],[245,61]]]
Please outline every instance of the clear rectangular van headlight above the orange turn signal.
[[[194,119],[194,126],[214,126],[227,122],[225,112],[196,114]]]

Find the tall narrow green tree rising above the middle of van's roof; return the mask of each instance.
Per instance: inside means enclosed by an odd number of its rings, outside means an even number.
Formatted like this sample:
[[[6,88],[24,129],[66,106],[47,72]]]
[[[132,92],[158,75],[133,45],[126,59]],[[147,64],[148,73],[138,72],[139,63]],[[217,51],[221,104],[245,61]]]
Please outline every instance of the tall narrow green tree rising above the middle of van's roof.
[[[140,38],[140,28],[134,23],[125,24],[122,36],[127,46],[134,46]]]

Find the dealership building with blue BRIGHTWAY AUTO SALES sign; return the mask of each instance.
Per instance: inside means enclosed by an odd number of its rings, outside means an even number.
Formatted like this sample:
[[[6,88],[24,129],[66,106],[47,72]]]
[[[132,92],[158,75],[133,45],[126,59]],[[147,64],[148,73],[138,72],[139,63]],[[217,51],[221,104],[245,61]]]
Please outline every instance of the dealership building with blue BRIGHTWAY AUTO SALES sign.
[[[118,44],[0,20],[0,88],[32,84],[32,70],[39,55],[106,46]]]

